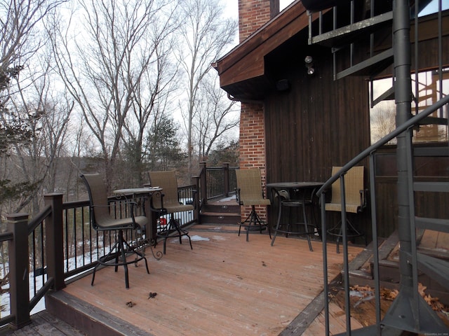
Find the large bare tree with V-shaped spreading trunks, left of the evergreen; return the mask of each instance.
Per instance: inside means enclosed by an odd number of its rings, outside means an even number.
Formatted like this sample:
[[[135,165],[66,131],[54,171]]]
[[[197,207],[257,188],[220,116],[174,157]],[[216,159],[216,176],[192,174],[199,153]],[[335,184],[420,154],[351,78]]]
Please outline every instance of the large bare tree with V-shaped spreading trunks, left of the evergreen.
[[[147,71],[157,67],[158,52],[163,52],[161,41],[172,29],[171,2],[80,0],[79,12],[69,18],[67,27],[48,26],[55,33],[53,48],[61,78],[98,141],[108,186],[123,130],[130,136],[133,123],[138,133],[147,123],[155,98],[142,92],[149,88]],[[159,92],[160,87],[151,83],[152,92]],[[131,120],[131,111],[139,120]]]

